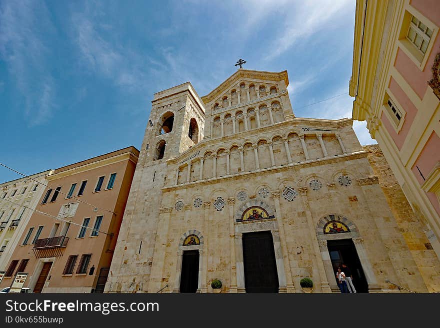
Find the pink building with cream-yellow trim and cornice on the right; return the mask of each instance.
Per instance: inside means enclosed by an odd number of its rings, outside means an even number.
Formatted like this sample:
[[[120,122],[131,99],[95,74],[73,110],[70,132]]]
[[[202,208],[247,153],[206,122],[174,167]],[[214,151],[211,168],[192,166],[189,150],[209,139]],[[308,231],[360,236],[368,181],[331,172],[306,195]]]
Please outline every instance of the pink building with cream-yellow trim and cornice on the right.
[[[357,0],[350,95],[440,255],[440,2]]]

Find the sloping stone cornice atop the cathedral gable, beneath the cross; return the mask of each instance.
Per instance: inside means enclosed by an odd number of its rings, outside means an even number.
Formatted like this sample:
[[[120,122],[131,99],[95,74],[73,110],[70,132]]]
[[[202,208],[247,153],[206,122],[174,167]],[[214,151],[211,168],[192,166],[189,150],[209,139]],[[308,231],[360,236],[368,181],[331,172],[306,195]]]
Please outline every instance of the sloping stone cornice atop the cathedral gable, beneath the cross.
[[[234,85],[237,84],[238,81],[246,80],[246,78],[260,79],[264,81],[284,80],[285,86],[287,87],[288,85],[288,76],[286,70],[276,73],[240,68],[207,95],[201,97],[201,100],[203,101],[203,103],[207,104],[208,102],[221,95],[225,90],[232,88]]]

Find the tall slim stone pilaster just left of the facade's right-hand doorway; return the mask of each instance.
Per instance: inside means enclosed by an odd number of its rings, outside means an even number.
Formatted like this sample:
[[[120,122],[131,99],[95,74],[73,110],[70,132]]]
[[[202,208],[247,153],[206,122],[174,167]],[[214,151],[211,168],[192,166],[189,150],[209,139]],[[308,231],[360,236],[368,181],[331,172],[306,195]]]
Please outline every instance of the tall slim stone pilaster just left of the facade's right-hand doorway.
[[[308,204],[307,199],[307,188],[298,188],[299,194],[301,195],[302,206],[304,208],[305,217],[307,219],[308,231],[310,234],[310,242],[312,244],[312,249],[314,256],[312,258],[312,262],[314,266],[317,267],[319,272],[319,281],[321,283],[322,293],[331,293],[330,285],[328,283],[328,279],[325,274],[324,264],[322,262],[322,257],[320,255],[319,245],[316,238],[316,232],[314,228],[313,218],[311,216],[310,206]]]

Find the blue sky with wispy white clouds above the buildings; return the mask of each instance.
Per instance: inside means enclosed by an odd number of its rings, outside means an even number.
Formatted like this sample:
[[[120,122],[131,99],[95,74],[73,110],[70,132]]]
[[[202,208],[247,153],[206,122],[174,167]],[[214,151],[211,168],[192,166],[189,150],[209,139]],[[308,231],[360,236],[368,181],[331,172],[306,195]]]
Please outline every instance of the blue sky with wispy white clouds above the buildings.
[[[139,149],[154,92],[190,81],[203,96],[238,58],[287,69],[297,117],[351,117],[354,9],[352,0],[0,0],[0,161],[32,174]],[[354,128],[374,143],[364,123]],[[18,177],[0,168],[0,182]]]

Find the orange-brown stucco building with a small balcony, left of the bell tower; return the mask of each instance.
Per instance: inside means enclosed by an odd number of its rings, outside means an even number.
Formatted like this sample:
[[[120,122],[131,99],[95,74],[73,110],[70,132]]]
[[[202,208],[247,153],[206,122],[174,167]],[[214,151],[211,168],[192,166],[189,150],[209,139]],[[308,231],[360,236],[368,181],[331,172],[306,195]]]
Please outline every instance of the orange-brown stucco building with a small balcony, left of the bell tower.
[[[35,293],[102,292],[138,155],[131,146],[56,169],[0,287],[26,272]]]

